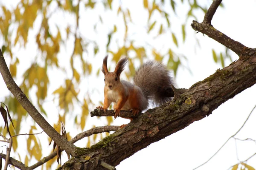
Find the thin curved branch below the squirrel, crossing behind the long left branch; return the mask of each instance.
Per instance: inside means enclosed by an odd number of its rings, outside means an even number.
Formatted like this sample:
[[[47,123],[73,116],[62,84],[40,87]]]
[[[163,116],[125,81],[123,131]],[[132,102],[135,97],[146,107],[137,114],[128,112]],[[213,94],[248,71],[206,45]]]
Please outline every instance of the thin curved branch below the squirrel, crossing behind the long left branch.
[[[111,131],[116,131],[118,129],[119,129],[119,126],[99,126],[99,127],[94,127],[94,128],[91,128],[90,130],[86,130],[86,131],[84,131],[82,133],[79,133],[78,135],[73,137],[70,140],[70,142],[71,143],[75,143],[75,142],[83,139],[84,137],[91,136],[93,134],[103,133],[103,132],[111,132]],[[63,151],[63,150],[61,150],[61,151]],[[29,168],[35,169],[36,167],[39,167],[42,164],[44,164],[45,162],[53,159],[56,155],[57,155],[57,151],[55,150],[53,153],[51,153],[48,156],[44,157],[43,159],[41,159],[37,163],[33,164]]]

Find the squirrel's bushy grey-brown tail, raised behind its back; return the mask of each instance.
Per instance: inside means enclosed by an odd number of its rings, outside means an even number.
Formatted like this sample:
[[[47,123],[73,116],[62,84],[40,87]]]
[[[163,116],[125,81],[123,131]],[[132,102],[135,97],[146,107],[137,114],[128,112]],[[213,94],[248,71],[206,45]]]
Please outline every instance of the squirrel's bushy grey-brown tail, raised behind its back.
[[[166,66],[160,62],[145,62],[134,76],[134,84],[139,86],[146,99],[159,106],[174,96],[172,77]]]

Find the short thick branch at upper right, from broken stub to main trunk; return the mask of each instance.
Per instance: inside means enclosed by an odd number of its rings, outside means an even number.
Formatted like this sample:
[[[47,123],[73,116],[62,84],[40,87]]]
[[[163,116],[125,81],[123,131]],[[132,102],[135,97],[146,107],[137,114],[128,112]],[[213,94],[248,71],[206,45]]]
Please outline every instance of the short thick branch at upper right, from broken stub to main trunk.
[[[241,57],[242,54],[246,55],[245,52],[250,50],[250,48],[244,46],[240,42],[237,42],[231,39],[230,37],[227,37],[227,35],[223,34],[222,32],[216,30],[210,24],[198,23],[197,21],[193,20],[193,23],[191,24],[191,26],[195,31],[199,31],[203,34],[208,35],[208,37],[218,41],[222,45],[234,51],[237,55],[239,55],[239,57]]]

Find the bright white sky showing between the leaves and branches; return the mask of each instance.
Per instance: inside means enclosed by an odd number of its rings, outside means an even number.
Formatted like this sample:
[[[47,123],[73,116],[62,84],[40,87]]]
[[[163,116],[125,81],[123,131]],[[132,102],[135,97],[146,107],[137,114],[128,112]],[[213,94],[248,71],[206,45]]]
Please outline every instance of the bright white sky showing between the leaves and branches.
[[[133,3],[135,0],[130,1],[122,1],[123,6],[128,6],[128,8],[131,10],[132,19],[134,22],[134,25],[141,26],[146,23],[143,16],[145,16],[145,11],[138,11],[137,9],[140,9],[140,5],[142,6],[142,3],[138,6],[134,6]],[[219,31],[223,32],[224,34],[227,34],[227,36],[231,37],[234,40],[237,40],[241,42],[242,44],[254,48],[256,46],[256,23],[254,21],[254,16],[256,16],[256,2],[255,0],[247,0],[241,1],[239,0],[224,0],[223,1],[225,8],[218,8],[216,14],[213,17],[212,25],[218,29]],[[210,4],[210,3],[208,3]],[[183,23],[184,18],[180,18],[181,14],[184,10],[184,6],[177,6],[177,16],[172,18],[171,24],[172,24],[172,30],[176,33],[181,32],[180,31],[180,23]],[[89,11],[86,11],[90,13]],[[98,11],[101,13],[101,11]],[[83,14],[83,11],[81,11],[81,14]],[[61,14],[60,14],[61,15]],[[111,15],[111,14],[109,14]],[[109,20],[109,15],[103,16],[103,20]],[[201,22],[203,20],[203,15],[199,12],[198,13],[198,22]],[[70,16],[65,15],[64,16],[66,20],[69,20],[71,18]],[[111,16],[112,17],[112,16]],[[106,30],[99,30],[98,34],[93,34],[90,30],[90,27],[87,26],[88,22],[92,22],[92,20],[96,20],[96,17],[91,15],[91,17],[83,18],[83,22],[80,22],[80,29],[83,30],[84,37],[89,37],[91,39],[95,39],[96,36],[98,38],[99,43],[105,43],[106,36],[105,34],[108,33],[109,29],[112,28],[112,23],[118,22],[116,20],[109,20],[109,25],[105,26]],[[52,23],[60,23],[61,20],[58,20],[58,17],[52,18]],[[175,22],[177,22],[177,25],[175,25]],[[40,23],[40,20],[37,20],[37,23]],[[189,73],[184,68],[180,68],[177,72],[176,76],[176,84],[179,88],[189,88],[191,85],[193,85],[195,82],[198,82],[200,80],[203,80],[209,75],[213,74],[218,68],[221,68],[220,64],[215,64],[212,59],[212,53],[211,49],[214,48],[215,51],[218,53],[219,51],[223,51],[224,47],[220,45],[218,42],[215,42],[214,40],[210,39],[206,35],[203,36],[201,33],[195,34],[195,31],[190,27],[190,24],[192,23],[192,19],[189,19],[189,22],[186,23],[186,43],[182,45],[182,43],[179,43],[180,48],[177,49],[178,54],[184,54],[186,57],[188,57],[188,63],[189,68],[192,71],[192,74]],[[134,29],[136,30],[136,27],[134,26]],[[35,23],[35,29],[37,28]],[[122,30],[122,29],[121,29]],[[134,39],[137,39],[138,41],[136,43],[141,44],[144,42],[143,37],[143,29],[138,29],[138,33],[134,35]],[[36,32],[36,31],[35,31]],[[122,31],[117,33],[122,34]],[[145,34],[145,33],[144,33]],[[176,34],[176,36],[181,37],[181,34]],[[137,38],[138,37],[138,38]],[[201,44],[201,48],[196,48],[195,53],[195,37],[199,39],[199,42]],[[171,37],[169,38],[171,39]],[[163,41],[166,41],[166,44],[170,43],[168,38],[163,37]],[[148,40],[150,44],[152,45],[158,45],[158,42],[154,42],[152,40]],[[2,46],[3,42],[0,42],[0,46]],[[70,48],[73,49],[72,45],[73,41],[70,41]],[[120,46],[122,45],[122,42],[119,42]],[[28,44],[29,47],[36,47],[35,44],[30,43]],[[115,45],[113,45],[115,46]],[[171,45],[172,46],[172,45]],[[172,47],[174,47],[173,45]],[[175,48],[175,47],[174,47]],[[29,64],[27,64],[28,59],[31,59],[35,56],[37,51],[32,50],[23,50],[23,49],[17,49],[17,51],[21,54],[23,54],[25,59],[20,59],[20,66],[18,69],[25,70],[27,67],[29,67]],[[71,50],[70,50],[71,51]],[[69,61],[68,56],[70,55],[69,50],[65,50],[64,48],[61,48],[61,60],[60,64],[65,66],[68,64],[65,64]],[[86,55],[86,54],[85,54]],[[90,54],[89,54],[90,55]],[[22,56],[22,55],[20,55]],[[63,56],[63,57],[62,57]],[[102,58],[105,56],[105,51],[99,51],[99,54],[96,55],[96,57],[90,57],[86,55],[88,61],[93,63],[93,67],[97,68],[101,67],[102,64]],[[85,57],[85,58],[86,58]],[[236,54],[232,53],[233,59],[238,59]],[[100,62],[99,62],[100,61]],[[6,62],[9,64],[10,60],[6,58]],[[226,66],[229,60],[226,60]],[[113,68],[113,66],[112,66]],[[68,68],[67,68],[68,69]],[[54,70],[55,71],[55,70]],[[96,70],[94,70],[96,72]],[[17,73],[18,77],[22,76],[23,71],[20,71]],[[51,84],[51,87],[49,88],[49,91],[53,91],[56,88],[58,88],[60,84],[63,82],[63,79],[66,77],[65,75],[61,75],[58,73],[58,77],[50,77],[50,83],[54,81],[55,83]],[[69,73],[68,73],[69,74]],[[123,76],[124,77],[124,76]],[[90,85],[90,82],[94,82],[95,85],[99,85],[97,87],[97,90],[93,91],[93,94],[90,94],[93,101],[95,101],[96,105],[97,102],[100,99],[103,99],[103,75],[100,74],[100,77],[94,77],[90,76],[86,79],[84,79],[82,82],[84,85],[83,87],[80,87],[81,90],[81,96],[86,96],[86,92],[90,91],[88,89],[92,88]],[[17,79],[17,82],[20,80]],[[18,83],[19,84],[19,83]],[[6,85],[3,82],[3,79],[0,78],[0,89],[1,94],[8,95],[9,92],[6,88]],[[35,89],[34,89],[35,91]],[[84,93],[82,93],[84,92]],[[256,104],[255,97],[253,94],[256,93],[256,86],[254,85],[251,88],[248,88],[247,90],[243,91],[241,94],[236,95],[233,99],[230,99],[229,101],[225,102],[223,105],[218,107],[215,111],[212,112],[210,116],[207,118],[204,118],[200,121],[194,122],[188,127],[186,127],[183,130],[178,131],[177,133],[172,134],[171,136],[166,137],[165,139],[162,139],[159,142],[156,142],[154,144],[151,144],[147,148],[135,153],[133,156],[131,156],[128,159],[125,159],[122,161],[117,167],[117,170],[155,170],[155,169],[161,169],[161,170],[171,170],[171,169],[180,169],[180,170],[192,170],[193,168],[197,167],[198,165],[204,163],[204,161],[207,161],[209,157],[211,157],[218,149],[221,147],[222,144],[234,133],[236,133],[237,130],[241,127],[241,125],[244,123],[245,119],[249,115],[251,109]],[[0,96],[0,101],[3,101],[3,95]],[[31,99],[35,99],[35,96],[30,96]],[[61,113],[61,111],[58,110],[58,108],[55,108],[56,105],[58,105],[57,102],[52,103],[52,97],[47,98],[47,101],[45,105],[50,106],[48,108],[47,113],[49,115],[48,118],[46,118],[51,124],[56,122],[56,119],[58,115],[55,113]],[[93,107],[93,106],[92,106]],[[94,106],[95,107],[95,106]],[[73,115],[80,115],[81,113],[79,110],[74,110]],[[70,119],[70,115],[67,115],[66,122]],[[29,118],[30,119],[30,118]],[[29,122],[32,122],[31,120],[27,120],[27,124],[32,124]],[[240,139],[246,139],[246,138],[253,138],[256,139],[256,134],[254,132],[255,129],[255,123],[254,120],[256,119],[256,111],[252,114],[247,124],[244,126],[244,128],[241,130],[241,132],[237,135]],[[124,123],[128,123],[129,121],[126,119],[118,118],[113,122],[113,125],[122,125]],[[87,118],[87,124],[84,130],[88,130],[91,128],[92,125],[102,126],[106,124],[106,121],[104,119],[97,119],[95,117]],[[29,127],[23,127],[22,131],[20,133],[27,133],[27,128]],[[73,122],[70,123],[70,125],[67,125],[66,129],[68,131],[71,131],[72,136],[75,136],[77,133],[81,132],[81,128],[78,128],[76,126],[73,126]],[[38,136],[41,139],[46,139],[46,135]],[[26,136],[21,136],[19,138],[20,140],[26,140]],[[41,142],[44,144],[44,142]],[[80,142],[77,142],[77,146],[83,147],[87,144],[87,139],[83,139]],[[250,157],[253,153],[256,152],[256,144],[254,142],[237,142],[237,149],[238,149],[238,156],[239,160],[243,161],[244,159],[247,159]],[[47,145],[43,145],[44,148],[48,148],[49,150],[52,149],[52,147],[48,147]],[[47,150],[46,153],[43,156],[47,156],[47,153],[50,151]],[[19,148],[20,155],[26,154],[26,148]],[[66,157],[65,155],[63,157]],[[17,158],[17,157],[16,157]],[[63,160],[64,162],[64,160]],[[227,145],[207,164],[202,166],[201,168],[198,168],[198,170],[219,170],[228,169],[231,165],[238,163],[239,161],[236,158],[236,145],[233,139],[230,140],[230,142],[227,143]],[[256,168],[256,157],[253,157],[250,159],[247,163],[253,167]],[[31,164],[29,164],[31,165]],[[38,168],[38,169],[41,169]]]

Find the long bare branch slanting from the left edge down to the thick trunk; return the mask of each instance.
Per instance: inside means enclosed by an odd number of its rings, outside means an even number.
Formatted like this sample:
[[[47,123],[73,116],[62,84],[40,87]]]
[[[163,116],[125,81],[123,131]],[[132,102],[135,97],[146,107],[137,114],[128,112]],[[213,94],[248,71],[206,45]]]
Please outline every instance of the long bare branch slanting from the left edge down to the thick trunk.
[[[29,113],[29,115],[35,120],[35,122],[45,131],[45,133],[58,144],[61,148],[74,156],[74,150],[76,146],[68,142],[63,136],[61,136],[49,123],[44,119],[44,117],[38,112],[34,105],[29,101],[26,95],[21,91],[13,80],[10,71],[6,65],[5,59],[3,57],[2,51],[0,49],[0,72],[2,74],[3,80],[6,83],[7,88],[18,102],[23,106],[23,108]]]

